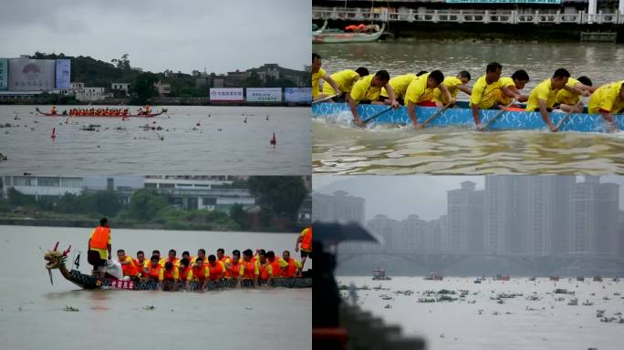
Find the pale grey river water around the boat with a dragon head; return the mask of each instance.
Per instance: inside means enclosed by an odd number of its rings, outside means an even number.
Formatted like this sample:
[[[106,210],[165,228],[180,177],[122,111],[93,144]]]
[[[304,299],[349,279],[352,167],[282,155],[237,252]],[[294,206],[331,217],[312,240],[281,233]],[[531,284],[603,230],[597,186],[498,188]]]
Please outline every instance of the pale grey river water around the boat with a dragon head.
[[[90,230],[0,226],[0,343],[5,349],[199,348],[304,349],[311,344],[312,290],[248,289],[206,293],[85,291],[53,271],[50,285],[43,250],[60,241],[82,251],[80,270],[89,273]],[[113,251],[162,253],[173,248],[195,254],[204,248],[294,248],[296,233],[172,232],[112,230]],[[68,260],[70,263],[71,260]],[[309,261],[308,261],[309,262]],[[308,265],[306,262],[306,265]],[[311,264],[310,264],[311,266]],[[146,310],[146,306],[154,310]],[[66,312],[64,308],[78,308]]]

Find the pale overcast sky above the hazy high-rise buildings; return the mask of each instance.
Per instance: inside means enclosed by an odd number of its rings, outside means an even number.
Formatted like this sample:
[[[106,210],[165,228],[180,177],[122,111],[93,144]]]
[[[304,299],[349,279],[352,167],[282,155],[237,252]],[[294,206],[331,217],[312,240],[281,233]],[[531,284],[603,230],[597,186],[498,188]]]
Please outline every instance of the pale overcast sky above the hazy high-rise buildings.
[[[384,214],[402,220],[411,214],[434,220],[446,214],[446,191],[460,188],[466,180],[475,182],[477,190],[484,189],[483,176],[330,176],[313,175],[314,191],[333,194],[345,190],[366,199],[366,218]],[[577,181],[582,181],[578,177]],[[603,176],[600,182],[619,183],[619,209],[624,210],[624,176]]]

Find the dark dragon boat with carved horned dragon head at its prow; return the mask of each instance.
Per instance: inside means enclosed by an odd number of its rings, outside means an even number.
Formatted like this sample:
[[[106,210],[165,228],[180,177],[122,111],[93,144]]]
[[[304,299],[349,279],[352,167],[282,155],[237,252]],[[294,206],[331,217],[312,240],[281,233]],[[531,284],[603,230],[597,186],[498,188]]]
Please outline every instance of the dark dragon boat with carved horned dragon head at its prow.
[[[68,270],[66,265],[68,259],[68,253],[71,246],[63,252],[57,251],[58,243],[54,249],[45,252],[44,259],[46,260],[47,273],[50,275],[50,282],[52,283],[52,270],[58,269],[60,273],[71,283],[78,285],[83,289],[120,289],[130,291],[152,291],[159,289],[159,283],[145,282],[145,281],[132,281],[115,278],[109,274],[104,278],[94,277],[86,273],[81,273],[78,270]],[[79,261],[79,254],[77,261]],[[172,289],[172,283],[162,283],[162,289]],[[269,287],[283,287],[283,288],[311,288],[311,277],[295,277],[295,278],[276,278],[269,282],[260,282],[259,284]],[[198,289],[198,283],[189,283],[189,290],[196,291]],[[242,288],[254,287],[254,281],[242,280],[240,283]],[[206,290],[221,290],[230,289],[236,287],[235,280],[217,280],[209,281],[205,285]]]

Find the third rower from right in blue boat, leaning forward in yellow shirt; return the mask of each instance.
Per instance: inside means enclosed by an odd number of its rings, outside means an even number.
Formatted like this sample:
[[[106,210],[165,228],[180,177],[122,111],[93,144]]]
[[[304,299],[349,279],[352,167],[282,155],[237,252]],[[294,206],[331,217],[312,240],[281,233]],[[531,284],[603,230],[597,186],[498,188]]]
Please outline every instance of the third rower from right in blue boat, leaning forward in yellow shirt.
[[[553,77],[548,78],[541,83],[537,84],[536,88],[533,88],[531,95],[529,95],[528,102],[526,103],[526,111],[533,112],[539,110],[544,122],[548,128],[556,132],[556,125],[548,116],[548,112],[552,111],[555,107],[556,94],[562,88],[567,88],[567,79],[569,79],[570,73],[564,68],[558,68],[553,74]]]

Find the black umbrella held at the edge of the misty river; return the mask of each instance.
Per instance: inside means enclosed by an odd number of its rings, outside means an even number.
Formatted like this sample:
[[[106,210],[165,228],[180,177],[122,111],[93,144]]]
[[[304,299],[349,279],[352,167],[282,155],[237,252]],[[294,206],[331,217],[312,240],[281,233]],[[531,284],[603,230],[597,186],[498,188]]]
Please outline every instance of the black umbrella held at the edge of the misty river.
[[[375,233],[368,232],[356,222],[314,222],[313,240],[323,244],[337,244],[344,241],[368,241],[383,242],[383,239]]]

